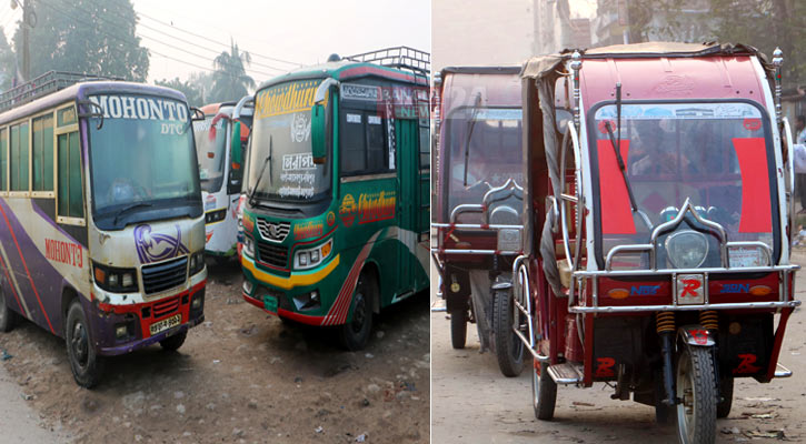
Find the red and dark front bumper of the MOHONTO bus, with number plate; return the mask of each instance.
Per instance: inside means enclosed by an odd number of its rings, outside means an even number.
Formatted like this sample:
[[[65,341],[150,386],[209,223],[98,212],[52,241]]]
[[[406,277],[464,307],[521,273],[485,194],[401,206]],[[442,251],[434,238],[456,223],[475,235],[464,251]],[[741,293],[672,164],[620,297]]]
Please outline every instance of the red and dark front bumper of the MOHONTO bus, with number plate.
[[[128,305],[105,304],[93,297],[88,313],[96,351],[103,356],[129,353],[200,324],[205,321],[206,284],[203,279],[180,293]],[[151,333],[152,325],[172,323],[177,316],[178,325]],[[121,329],[126,334],[119,333]]]

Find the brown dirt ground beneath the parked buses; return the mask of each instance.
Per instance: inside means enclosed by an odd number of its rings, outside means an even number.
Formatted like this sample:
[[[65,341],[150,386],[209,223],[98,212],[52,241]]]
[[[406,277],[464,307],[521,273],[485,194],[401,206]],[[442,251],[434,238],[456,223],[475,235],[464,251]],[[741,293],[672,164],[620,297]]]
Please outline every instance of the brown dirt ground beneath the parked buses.
[[[2,362],[51,430],[77,443],[426,443],[429,316],[418,294],[376,317],[364,352],[331,330],[285,325],[243,302],[237,263],[208,264],[206,322],[177,353],[108,361],[76,385],[64,342],[31,323],[0,335]]]

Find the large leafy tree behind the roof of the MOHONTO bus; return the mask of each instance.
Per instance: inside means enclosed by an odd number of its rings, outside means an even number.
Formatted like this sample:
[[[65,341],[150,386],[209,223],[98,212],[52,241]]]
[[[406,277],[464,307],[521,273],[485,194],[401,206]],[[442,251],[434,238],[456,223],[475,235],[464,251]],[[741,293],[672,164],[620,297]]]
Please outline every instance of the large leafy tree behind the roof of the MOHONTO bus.
[[[32,78],[58,70],[146,80],[149,53],[135,34],[138,19],[130,0],[37,0],[33,7]],[[18,28],[18,54],[21,34]]]

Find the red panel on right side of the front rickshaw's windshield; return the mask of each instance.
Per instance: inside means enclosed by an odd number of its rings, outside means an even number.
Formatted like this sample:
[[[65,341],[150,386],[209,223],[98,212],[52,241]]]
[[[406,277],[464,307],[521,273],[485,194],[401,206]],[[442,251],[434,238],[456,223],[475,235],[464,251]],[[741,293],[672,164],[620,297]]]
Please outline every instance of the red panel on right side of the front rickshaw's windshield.
[[[742,170],[739,233],[769,233],[773,231],[773,211],[765,141],[763,138],[736,138],[733,142]]]

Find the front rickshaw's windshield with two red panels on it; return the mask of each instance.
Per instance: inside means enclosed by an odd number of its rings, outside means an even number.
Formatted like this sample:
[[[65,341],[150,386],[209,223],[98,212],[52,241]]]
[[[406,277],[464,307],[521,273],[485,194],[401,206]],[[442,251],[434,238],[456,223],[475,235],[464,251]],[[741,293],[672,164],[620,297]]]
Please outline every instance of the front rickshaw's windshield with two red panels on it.
[[[624,104],[620,154],[637,211],[610,138],[610,132],[618,138],[616,113],[616,105],[600,107],[593,131],[603,258],[616,245],[647,243],[651,230],[674,219],[686,199],[700,216],[719,223],[729,241],[773,246],[775,182],[769,165],[775,162],[759,109],[745,102]],[[623,264],[637,262],[634,258]]]

